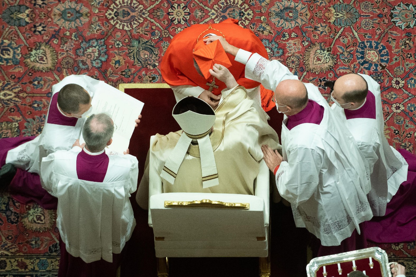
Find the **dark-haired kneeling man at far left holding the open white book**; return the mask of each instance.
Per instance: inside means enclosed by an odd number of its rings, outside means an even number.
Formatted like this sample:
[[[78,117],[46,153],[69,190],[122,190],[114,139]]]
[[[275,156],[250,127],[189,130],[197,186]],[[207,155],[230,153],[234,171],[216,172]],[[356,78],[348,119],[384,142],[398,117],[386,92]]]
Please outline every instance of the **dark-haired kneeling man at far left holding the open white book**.
[[[52,87],[52,99],[42,133],[37,137],[3,138],[0,141],[0,184],[21,203],[35,201],[56,208],[57,200],[40,185],[42,157],[69,150],[81,134],[99,80],[70,75]],[[139,116],[140,118],[141,116]],[[136,120],[139,123],[140,120]]]

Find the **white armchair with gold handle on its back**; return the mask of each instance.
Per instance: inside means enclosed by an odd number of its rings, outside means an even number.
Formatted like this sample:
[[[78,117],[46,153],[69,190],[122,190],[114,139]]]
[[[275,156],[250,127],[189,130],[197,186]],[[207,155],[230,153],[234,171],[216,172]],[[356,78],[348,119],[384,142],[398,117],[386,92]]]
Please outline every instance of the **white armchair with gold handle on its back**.
[[[167,257],[260,257],[260,276],[270,276],[270,185],[263,160],[255,195],[163,193],[159,174],[149,172],[158,276],[168,276]]]

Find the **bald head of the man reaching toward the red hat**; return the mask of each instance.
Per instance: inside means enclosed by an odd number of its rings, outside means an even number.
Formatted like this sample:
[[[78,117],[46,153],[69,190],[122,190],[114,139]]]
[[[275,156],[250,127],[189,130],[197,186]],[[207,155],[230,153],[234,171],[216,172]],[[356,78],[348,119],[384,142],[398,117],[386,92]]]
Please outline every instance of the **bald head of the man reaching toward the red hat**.
[[[283,80],[276,87],[275,98],[280,105],[290,106],[298,113],[308,103],[308,92],[299,80]]]

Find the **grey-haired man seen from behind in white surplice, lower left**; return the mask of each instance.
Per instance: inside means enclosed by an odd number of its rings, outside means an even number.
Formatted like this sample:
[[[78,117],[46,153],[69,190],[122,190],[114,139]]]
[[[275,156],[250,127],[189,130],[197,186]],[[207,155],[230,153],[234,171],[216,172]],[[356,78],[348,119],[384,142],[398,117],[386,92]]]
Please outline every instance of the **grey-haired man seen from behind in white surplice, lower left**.
[[[108,115],[90,115],[85,145],[42,159],[44,187],[58,199],[59,277],[115,277],[136,225],[129,197],[137,188],[138,162],[128,150],[106,154],[113,133]]]

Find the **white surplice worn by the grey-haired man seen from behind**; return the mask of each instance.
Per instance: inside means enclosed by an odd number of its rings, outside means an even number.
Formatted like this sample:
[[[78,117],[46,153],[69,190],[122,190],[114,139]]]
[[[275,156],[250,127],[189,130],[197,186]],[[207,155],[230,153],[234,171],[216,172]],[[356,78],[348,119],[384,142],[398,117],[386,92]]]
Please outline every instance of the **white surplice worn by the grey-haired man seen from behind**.
[[[84,262],[112,262],[136,225],[129,197],[139,174],[136,157],[109,156],[103,182],[77,179],[81,148],[57,151],[43,158],[45,189],[58,198],[57,226],[67,251]]]

